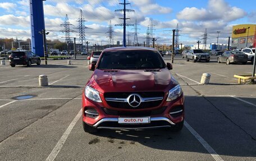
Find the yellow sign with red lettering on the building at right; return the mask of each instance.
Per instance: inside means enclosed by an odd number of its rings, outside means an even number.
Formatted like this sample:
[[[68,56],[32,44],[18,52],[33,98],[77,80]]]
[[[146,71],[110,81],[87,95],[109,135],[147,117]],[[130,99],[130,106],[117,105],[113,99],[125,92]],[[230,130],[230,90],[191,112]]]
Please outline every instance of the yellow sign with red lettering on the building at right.
[[[243,24],[233,26],[232,38],[240,38],[248,36],[254,36],[256,30],[256,25],[253,24]]]

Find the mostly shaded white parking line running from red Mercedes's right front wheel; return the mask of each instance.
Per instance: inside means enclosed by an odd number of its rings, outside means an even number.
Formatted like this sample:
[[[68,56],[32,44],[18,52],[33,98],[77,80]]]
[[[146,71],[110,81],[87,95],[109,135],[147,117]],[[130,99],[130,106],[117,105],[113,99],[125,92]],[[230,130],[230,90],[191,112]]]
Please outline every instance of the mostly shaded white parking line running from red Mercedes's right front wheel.
[[[194,128],[192,128],[188,122],[184,121],[184,125],[186,128],[188,128],[188,130],[191,132],[191,134],[193,134],[195,136],[195,138],[204,146],[204,148],[209,152],[209,154],[212,155],[212,157],[216,160],[216,161],[224,161],[220,155],[218,155],[216,153],[216,151],[203,139],[203,137],[201,137],[195,130]]]

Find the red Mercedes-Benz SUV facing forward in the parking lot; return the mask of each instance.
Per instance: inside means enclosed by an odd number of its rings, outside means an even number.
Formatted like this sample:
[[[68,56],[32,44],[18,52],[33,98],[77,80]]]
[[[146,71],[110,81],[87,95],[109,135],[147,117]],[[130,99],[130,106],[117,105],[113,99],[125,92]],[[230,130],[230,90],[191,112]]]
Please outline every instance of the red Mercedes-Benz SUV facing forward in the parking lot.
[[[153,48],[108,48],[100,54],[82,95],[85,132],[168,127],[180,131],[184,95]]]

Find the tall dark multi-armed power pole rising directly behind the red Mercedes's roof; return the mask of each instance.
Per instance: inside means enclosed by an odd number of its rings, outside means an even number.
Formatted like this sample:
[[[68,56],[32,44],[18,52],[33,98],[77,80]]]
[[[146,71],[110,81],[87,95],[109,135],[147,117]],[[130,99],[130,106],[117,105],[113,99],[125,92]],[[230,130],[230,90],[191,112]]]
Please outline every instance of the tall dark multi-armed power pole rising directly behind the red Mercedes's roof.
[[[130,3],[119,3],[124,5],[124,9],[119,9],[119,10],[115,10],[115,12],[124,12],[124,18],[119,18],[121,20],[124,20],[123,24],[116,24],[115,26],[124,26],[124,31],[123,31],[123,47],[126,47],[126,26],[134,26],[133,24],[126,24],[126,20],[130,19],[130,18],[126,18],[126,12],[134,12],[134,10],[130,10],[130,9],[126,9],[126,5],[130,4]]]

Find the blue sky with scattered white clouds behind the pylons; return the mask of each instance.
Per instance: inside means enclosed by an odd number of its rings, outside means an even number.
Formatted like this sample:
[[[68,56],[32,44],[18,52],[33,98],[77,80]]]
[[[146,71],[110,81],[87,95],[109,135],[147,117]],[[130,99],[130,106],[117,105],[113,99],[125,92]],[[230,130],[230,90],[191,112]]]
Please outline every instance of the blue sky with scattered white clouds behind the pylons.
[[[38,0],[39,1],[39,0]],[[87,29],[86,41],[91,44],[106,44],[109,21],[112,24],[121,24],[122,12],[115,12],[123,5],[123,0],[47,0],[44,1],[45,29],[49,31],[47,39],[65,41],[60,26],[68,15],[72,30],[83,11]],[[157,43],[171,44],[172,29],[179,24],[179,42],[196,44],[203,38],[205,29],[208,32],[208,44],[217,42],[217,31],[220,31],[219,42],[227,44],[227,37],[231,36],[232,26],[237,24],[256,23],[255,0],[126,0],[131,4],[127,8],[135,12],[127,13],[127,23],[138,21],[139,43],[146,41],[147,28],[153,20],[154,37]],[[113,26],[114,40],[122,42],[122,27]],[[134,40],[134,27],[126,29],[126,40]],[[71,33],[72,37],[79,38],[78,33]],[[0,0],[0,38],[30,38],[30,8],[29,0]],[[128,38],[129,37],[129,38]]]

